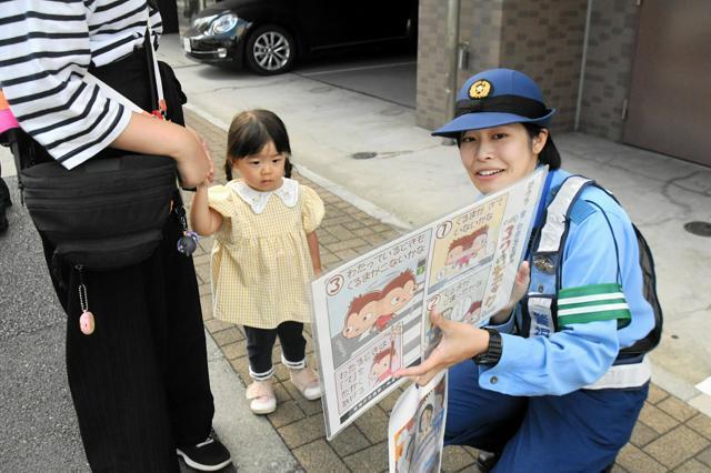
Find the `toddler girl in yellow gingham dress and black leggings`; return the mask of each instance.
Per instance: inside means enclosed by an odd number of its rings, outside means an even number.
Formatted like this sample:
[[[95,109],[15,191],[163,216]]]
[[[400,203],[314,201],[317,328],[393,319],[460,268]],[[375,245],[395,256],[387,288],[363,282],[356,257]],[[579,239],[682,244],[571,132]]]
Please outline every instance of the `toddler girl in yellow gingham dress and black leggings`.
[[[310,321],[309,280],[321,270],[316,229],[323,202],[289,179],[289,137],[267,110],[238,114],[228,132],[227,185],[198,187],[190,222],[212,248],[214,316],[244,325],[250,409],[277,409],[271,352],[277,335],[291,382],[308,400],[321,396],[319,379],[306,366],[303,323]],[[232,180],[239,171],[241,179]]]

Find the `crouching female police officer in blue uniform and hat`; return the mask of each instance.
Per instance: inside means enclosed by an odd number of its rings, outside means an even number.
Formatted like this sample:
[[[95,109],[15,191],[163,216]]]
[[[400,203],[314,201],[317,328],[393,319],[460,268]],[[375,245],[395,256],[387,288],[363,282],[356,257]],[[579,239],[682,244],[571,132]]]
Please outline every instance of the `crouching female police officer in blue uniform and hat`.
[[[445,443],[493,452],[488,466],[502,472],[604,470],[629,441],[650,379],[643,354],[625,353],[654,325],[634,230],[604,190],[560,169],[554,112],[529,77],[493,69],[464,83],[457,117],[433,133],[458,141],[484,194],[539,165],[550,172],[510,305],[483,329],[432,314],[442,341],[398,373],[423,384],[449,368]]]

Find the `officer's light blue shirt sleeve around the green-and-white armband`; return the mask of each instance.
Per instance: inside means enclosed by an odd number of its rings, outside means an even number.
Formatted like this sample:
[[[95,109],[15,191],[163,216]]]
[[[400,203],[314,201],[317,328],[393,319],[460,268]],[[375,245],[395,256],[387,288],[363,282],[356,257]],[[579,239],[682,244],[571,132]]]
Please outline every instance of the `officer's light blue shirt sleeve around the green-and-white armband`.
[[[610,225],[600,211],[571,224],[563,253],[563,288],[617,283],[617,252],[628,251],[625,235],[631,225],[619,215],[608,212],[608,217]],[[620,349],[614,318],[574,321],[549,338],[501,336],[501,360],[491,368],[480,366],[479,383],[511,395],[562,395],[579,390],[600,379]]]

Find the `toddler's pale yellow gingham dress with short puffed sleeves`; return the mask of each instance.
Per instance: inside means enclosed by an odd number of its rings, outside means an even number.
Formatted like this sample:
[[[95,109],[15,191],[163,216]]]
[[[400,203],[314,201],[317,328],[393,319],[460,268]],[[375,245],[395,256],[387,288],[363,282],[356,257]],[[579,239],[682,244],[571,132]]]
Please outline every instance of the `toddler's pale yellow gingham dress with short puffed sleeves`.
[[[271,193],[257,214],[230,187],[234,182],[208,190],[210,207],[224,218],[212,246],[214,316],[258,329],[310,322],[313,265],[307,233],[321,223],[323,202],[313,189],[298,184],[294,207]]]

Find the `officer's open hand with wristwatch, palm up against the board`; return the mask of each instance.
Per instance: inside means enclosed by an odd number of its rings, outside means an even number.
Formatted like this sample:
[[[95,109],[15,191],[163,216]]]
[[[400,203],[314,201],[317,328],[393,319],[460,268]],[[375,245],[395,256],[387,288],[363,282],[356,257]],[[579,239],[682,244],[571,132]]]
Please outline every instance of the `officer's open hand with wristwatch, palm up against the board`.
[[[408,376],[419,385],[429,383],[440,371],[483,353],[489,346],[489,332],[430,312],[432,324],[442,331],[442,339],[430,356],[418,366],[398,370],[397,378]]]

